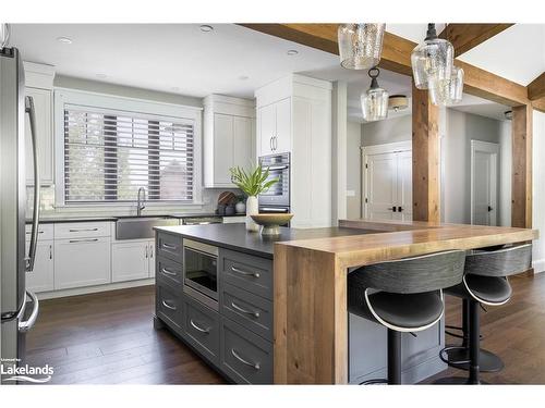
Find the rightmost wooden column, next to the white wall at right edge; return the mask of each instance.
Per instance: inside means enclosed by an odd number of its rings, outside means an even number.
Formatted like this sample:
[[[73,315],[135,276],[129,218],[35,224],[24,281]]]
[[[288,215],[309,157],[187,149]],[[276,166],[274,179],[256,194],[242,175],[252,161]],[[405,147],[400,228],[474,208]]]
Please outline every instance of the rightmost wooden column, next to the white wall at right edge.
[[[512,108],[511,226],[532,227],[532,106]]]

